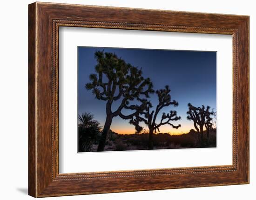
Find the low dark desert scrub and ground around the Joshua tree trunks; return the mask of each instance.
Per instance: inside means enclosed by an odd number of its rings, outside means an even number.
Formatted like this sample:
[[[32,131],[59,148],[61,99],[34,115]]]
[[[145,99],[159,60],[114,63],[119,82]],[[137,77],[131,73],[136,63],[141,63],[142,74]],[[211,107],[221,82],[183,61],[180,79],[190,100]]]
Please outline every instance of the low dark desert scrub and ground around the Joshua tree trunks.
[[[110,130],[111,131],[111,130]],[[148,149],[148,133],[141,134],[118,134],[111,131],[112,138],[107,139],[104,151],[125,151],[125,150],[146,150]],[[182,135],[170,135],[168,133],[153,134],[153,149],[174,149],[174,148],[200,148],[201,144],[197,140],[197,132],[191,129],[189,133]],[[203,131],[206,137],[206,131]],[[216,147],[216,129],[209,131],[209,148]],[[94,144],[91,151],[97,150],[97,144]]]

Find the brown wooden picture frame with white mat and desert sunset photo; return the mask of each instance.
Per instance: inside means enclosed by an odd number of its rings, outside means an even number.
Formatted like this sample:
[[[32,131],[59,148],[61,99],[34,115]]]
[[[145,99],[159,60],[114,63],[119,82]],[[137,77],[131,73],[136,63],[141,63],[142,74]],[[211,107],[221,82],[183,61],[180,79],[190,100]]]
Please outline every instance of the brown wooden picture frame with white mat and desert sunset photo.
[[[248,16],[28,14],[29,195],[249,183]]]

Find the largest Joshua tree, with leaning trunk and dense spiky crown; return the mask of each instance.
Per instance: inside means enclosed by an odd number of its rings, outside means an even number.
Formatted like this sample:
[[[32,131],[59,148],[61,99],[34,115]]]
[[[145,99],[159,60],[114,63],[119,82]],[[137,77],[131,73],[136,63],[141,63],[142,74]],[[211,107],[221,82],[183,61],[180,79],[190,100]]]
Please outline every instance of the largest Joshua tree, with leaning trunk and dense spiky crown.
[[[103,151],[108,130],[112,119],[120,116],[122,119],[131,119],[145,109],[148,101],[141,95],[149,97],[154,92],[153,84],[149,78],[142,77],[142,71],[118,58],[114,53],[96,51],[94,57],[97,60],[95,71],[90,75],[90,83],[86,84],[87,90],[92,90],[95,98],[106,101],[106,121],[102,130],[101,139],[97,151]],[[112,110],[112,103],[121,100],[117,110]],[[140,105],[129,105],[133,100]],[[132,109],[134,113],[123,115],[123,109]]]

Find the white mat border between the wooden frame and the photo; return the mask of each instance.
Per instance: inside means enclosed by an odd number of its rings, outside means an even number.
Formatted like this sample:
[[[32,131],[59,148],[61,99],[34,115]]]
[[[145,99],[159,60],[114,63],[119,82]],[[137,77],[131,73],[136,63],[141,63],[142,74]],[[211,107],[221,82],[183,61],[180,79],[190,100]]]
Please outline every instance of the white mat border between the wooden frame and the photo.
[[[59,39],[60,173],[232,164],[231,35],[61,27]],[[217,52],[217,148],[78,154],[77,46]]]

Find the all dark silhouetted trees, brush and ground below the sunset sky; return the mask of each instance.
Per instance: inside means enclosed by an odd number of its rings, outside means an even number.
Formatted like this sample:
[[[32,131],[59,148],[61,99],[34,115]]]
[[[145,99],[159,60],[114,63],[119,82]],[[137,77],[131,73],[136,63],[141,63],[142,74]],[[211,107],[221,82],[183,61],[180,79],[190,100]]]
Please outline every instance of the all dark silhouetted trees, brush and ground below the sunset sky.
[[[159,133],[163,125],[174,129],[181,127],[181,124],[173,123],[181,119],[175,110],[167,114],[163,112],[159,117],[161,110],[178,106],[178,102],[171,98],[169,86],[154,91],[153,83],[142,76],[141,69],[126,63],[115,53],[96,51],[94,57],[96,73],[89,76],[90,82],[85,88],[91,90],[96,99],[106,101],[106,120],[102,129],[91,113],[78,116],[79,152],[216,147],[216,112],[209,111],[209,106],[188,104],[187,119],[194,123],[195,130],[181,135]],[[149,94],[158,97],[154,110]],[[115,110],[114,102],[118,103]],[[124,115],[123,110],[130,110],[131,114]],[[135,126],[135,134],[122,135],[112,131],[110,127],[116,116],[129,120]],[[141,123],[147,129],[143,129]]]

